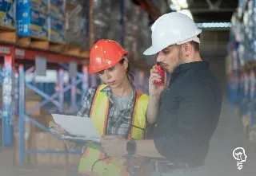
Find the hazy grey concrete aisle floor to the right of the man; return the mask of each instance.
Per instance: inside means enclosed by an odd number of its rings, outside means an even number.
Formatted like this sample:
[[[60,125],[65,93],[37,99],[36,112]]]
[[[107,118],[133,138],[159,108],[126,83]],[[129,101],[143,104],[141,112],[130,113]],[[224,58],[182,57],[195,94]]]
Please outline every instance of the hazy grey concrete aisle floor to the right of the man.
[[[233,157],[236,147],[245,149],[247,158],[242,170],[238,170]],[[218,127],[210,141],[210,152],[206,158],[206,167],[211,176],[252,176],[256,174],[256,147],[249,142],[242,127],[241,119],[234,108],[224,98],[222,114]]]

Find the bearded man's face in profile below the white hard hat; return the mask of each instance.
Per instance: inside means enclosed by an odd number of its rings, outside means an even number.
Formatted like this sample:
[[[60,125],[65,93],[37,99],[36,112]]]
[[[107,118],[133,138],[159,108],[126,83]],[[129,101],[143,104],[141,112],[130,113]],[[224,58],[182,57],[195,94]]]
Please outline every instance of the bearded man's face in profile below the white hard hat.
[[[173,72],[174,68],[180,65],[182,60],[182,47],[181,45],[172,45],[166,49],[162,49],[158,53],[157,61],[162,66],[162,68]]]

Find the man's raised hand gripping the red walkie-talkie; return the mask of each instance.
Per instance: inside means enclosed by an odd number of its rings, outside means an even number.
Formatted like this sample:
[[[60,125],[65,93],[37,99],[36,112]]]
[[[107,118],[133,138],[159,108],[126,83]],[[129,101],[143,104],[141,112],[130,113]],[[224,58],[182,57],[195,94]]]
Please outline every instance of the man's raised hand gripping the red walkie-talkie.
[[[149,93],[150,96],[161,96],[162,92],[166,89],[166,72],[165,72],[165,80],[163,86],[158,86],[154,84],[154,81],[161,81],[161,76],[158,75],[158,69],[152,68],[150,69],[150,79],[149,79]]]

